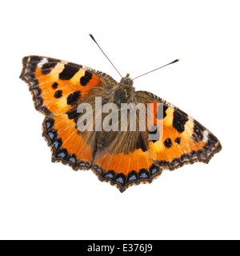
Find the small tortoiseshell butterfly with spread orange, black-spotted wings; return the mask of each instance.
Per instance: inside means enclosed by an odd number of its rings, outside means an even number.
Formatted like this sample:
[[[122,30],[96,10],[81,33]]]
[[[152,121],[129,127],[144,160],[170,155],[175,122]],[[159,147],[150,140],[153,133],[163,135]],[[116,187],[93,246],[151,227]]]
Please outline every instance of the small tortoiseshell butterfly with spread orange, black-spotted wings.
[[[55,58],[28,56],[22,63],[20,78],[28,83],[36,110],[45,115],[42,135],[52,150],[52,161],[74,170],[91,169],[100,181],[110,182],[121,192],[152,182],[164,169],[208,163],[222,149],[218,138],[188,114],[150,92],[135,91],[129,74],[116,82],[108,74]],[[78,105],[94,106],[96,97],[102,97],[102,104],[115,103],[119,111],[120,103],[152,103],[147,114],[156,129],[79,131]],[[159,103],[163,106],[160,118]],[[162,122],[161,136],[157,119]],[[137,127],[140,122],[137,114]],[[150,134],[157,138],[150,140]]]

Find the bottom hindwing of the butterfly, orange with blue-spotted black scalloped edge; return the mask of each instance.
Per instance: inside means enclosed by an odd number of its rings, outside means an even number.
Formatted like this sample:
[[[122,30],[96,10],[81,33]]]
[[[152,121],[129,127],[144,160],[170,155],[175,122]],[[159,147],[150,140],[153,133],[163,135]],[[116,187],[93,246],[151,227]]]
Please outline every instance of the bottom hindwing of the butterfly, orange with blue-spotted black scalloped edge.
[[[154,164],[149,151],[141,148],[128,154],[106,154],[94,163],[94,173],[104,182],[110,182],[123,192],[129,186],[150,183],[162,173]]]

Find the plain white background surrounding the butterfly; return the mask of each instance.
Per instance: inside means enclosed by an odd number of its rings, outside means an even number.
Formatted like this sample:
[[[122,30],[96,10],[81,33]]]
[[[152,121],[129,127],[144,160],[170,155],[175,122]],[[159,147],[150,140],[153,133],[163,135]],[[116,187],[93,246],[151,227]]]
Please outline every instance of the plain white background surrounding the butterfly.
[[[2,239],[239,239],[239,1],[1,2]],[[38,54],[117,72],[186,111],[222,142],[209,165],[165,170],[121,194],[50,161],[42,114],[18,77]]]

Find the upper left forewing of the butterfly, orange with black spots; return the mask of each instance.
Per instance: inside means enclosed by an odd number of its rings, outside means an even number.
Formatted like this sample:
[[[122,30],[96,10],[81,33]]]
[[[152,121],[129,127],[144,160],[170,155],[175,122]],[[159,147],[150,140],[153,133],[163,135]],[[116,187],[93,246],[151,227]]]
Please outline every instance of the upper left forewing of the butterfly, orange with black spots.
[[[64,114],[93,88],[116,83],[102,72],[55,58],[29,56],[22,64],[20,78],[28,83],[36,109],[47,116]]]

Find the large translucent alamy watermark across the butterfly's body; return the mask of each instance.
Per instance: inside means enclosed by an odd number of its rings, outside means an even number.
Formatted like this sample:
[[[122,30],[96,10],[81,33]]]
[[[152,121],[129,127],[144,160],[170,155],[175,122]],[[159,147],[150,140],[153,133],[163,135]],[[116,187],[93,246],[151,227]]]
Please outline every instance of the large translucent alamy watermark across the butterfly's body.
[[[82,132],[136,131],[137,129],[146,131],[147,129],[150,132],[150,140],[158,140],[162,137],[162,103],[147,103],[146,105],[143,103],[136,105],[133,102],[121,103],[119,108],[114,103],[102,105],[102,98],[96,97],[94,108],[89,103],[81,103],[78,105],[77,112],[80,114],[77,126]]]

